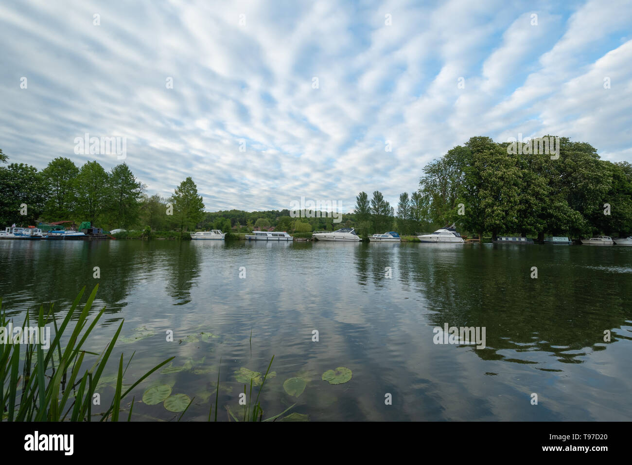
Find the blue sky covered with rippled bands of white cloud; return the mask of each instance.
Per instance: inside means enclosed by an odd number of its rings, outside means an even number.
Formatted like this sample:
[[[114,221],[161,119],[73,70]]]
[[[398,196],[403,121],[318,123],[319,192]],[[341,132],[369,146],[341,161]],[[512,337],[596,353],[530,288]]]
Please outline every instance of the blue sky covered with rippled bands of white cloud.
[[[3,0],[0,40],[10,162],[109,170],[75,138],[125,137],[149,194],[191,176],[209,211],[394,204],[474,135],[632,162],[629,0]]]

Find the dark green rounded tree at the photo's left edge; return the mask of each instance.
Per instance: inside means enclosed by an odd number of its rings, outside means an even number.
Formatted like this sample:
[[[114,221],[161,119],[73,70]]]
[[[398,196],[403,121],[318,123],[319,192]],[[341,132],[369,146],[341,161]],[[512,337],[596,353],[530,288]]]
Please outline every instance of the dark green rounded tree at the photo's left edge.
[[[32,225],[46,201],[46,183],[35,166],[0,166],[0,224]]]

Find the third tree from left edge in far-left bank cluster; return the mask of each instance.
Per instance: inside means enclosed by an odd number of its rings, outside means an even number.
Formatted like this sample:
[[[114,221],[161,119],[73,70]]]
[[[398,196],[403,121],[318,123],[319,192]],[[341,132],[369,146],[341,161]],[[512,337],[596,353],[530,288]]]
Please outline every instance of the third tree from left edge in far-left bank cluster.
[[[75,216],[81,221],[99,223],[107,208],[108,175],[97,161],[87,161],[75,178],[77,200]]]

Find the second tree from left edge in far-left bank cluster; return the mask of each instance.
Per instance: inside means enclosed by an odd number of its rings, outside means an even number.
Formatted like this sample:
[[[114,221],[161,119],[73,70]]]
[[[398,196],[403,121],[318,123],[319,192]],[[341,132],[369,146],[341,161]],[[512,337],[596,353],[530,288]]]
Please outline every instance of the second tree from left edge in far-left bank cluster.
[[[47,183],[48,199],[44,206],[44,217],[49,221],[70,220],[76,209],[76,177],[79,168],[69,158],[58,157],[44,170],[42,177]]]

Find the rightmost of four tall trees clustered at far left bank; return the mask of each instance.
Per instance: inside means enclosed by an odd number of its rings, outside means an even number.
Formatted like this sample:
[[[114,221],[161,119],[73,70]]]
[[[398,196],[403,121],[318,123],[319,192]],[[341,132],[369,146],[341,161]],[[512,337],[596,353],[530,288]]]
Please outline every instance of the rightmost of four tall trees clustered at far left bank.
[[[107,189],[109,225],[126,229],[138,223],[143,190],[145,186],[136,180],[126,163],[112,168]]]

